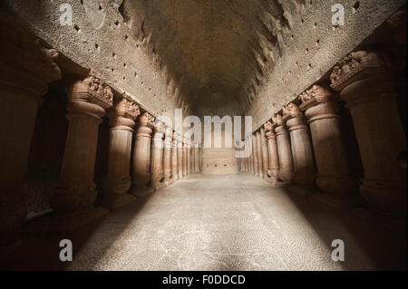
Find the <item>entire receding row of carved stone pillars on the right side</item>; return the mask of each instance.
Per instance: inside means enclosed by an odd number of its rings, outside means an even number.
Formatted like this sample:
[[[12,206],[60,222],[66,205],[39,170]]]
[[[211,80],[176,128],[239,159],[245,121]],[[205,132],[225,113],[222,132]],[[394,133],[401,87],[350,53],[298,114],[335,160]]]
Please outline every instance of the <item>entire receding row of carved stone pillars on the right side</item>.
[[[353,207],[364,197],[375,210],[406,212],[406,170],[397,159],[406,150],[406,137],[392,73],[377,53],[357,52],[335,66],[331,82],[338,95],[315,84],[254,133],[252,154],[240,160],[241,169],[295,184],[306,194],[317,187],[314,197],[335,207]],[[353,118],[364,167],[361,183],[348,166],[340,100]]]

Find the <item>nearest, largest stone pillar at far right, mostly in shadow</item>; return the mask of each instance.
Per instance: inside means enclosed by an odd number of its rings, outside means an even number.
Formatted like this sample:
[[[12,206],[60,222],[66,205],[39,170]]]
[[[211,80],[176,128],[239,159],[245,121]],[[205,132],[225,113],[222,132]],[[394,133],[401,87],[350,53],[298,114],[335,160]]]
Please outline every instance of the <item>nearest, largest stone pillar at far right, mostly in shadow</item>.
[[[360,193],[376,210],[406,214],[406,171],[397,160],[406,138],[392,73],[377,53],[357,52],[336,65],[330,78],[353,117],[364,166]]]

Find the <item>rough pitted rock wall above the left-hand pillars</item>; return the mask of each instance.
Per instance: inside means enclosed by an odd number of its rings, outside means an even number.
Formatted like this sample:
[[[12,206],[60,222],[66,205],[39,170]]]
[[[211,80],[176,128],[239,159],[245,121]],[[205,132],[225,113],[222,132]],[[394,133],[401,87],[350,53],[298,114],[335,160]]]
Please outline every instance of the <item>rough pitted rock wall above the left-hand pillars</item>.
[[[154,115],[174,115],[179,92],[160,57],[124,23],[119,2],[112,0],[8,0],[2,8],[73,63],[138,101]],[[73,25],[61,25],[61,5],[71,5]],[[70,67],[63,72],[71,73]],[[188,109],[183,108],[188,113]]]

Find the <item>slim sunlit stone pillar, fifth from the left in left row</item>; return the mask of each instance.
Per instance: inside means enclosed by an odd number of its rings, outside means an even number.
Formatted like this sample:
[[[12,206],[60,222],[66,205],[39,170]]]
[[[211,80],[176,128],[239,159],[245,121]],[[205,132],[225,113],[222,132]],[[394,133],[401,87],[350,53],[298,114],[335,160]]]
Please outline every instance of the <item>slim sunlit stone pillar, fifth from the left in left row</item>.
[[[154,123],[153,140],[151,141],[151,188],[154,190],[164,187],[163,178],[163,149],[164,123],[156,120]]]

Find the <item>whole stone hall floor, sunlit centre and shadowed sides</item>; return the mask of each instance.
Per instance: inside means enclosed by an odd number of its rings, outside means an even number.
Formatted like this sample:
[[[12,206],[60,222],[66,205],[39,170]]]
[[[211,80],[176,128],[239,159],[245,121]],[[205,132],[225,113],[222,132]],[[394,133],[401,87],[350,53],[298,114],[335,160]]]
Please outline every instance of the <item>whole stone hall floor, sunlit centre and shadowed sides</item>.
[[[68,265],[58,260],[58,242],[65,236],[54,236],[27,237],[23,244],[31,248],[35,244],[36,250],[27,254],[20,250],[16,255],[21,256],[11,267],[406,269],[406,231],[391,231],[355,217],[361,215],[335,211],[248,174],[191,175],[68,236],[74,250]],[[345,242],[345,262],[331,259],[334,239]]]

